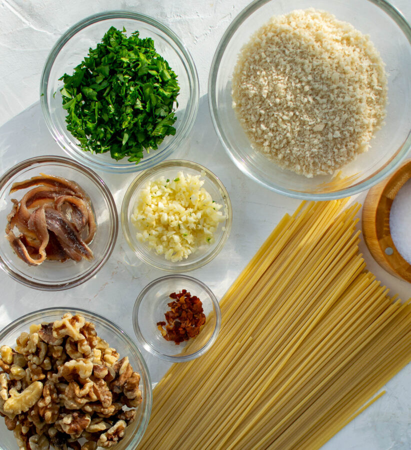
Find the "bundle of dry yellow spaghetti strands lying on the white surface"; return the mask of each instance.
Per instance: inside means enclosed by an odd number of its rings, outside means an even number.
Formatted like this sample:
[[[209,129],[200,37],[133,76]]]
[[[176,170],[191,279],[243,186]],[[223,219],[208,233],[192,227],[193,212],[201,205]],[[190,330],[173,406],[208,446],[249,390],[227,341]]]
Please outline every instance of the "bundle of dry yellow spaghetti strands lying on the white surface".
[[[141,448],[318,448],[411,360],[411,304],[365,270],[344,207],[284,216],[221,300],[214,346],[155,387]]]

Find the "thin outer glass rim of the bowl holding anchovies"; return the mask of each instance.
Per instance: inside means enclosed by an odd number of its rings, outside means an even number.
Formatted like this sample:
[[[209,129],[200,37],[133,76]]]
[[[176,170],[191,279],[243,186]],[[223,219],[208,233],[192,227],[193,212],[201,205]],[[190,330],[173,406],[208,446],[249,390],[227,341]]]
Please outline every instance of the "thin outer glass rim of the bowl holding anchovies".
[[[88,167],[83,166],[77,161],[74,161],[73,159],[64,157],[64,156],[35,156],[32,158],[25,159],[24,161],[17,162],[12,167],[10,167],[5,173],[3,173],[0,176],[0,191],[4,188],[5,183],[10,179],[10,177],[16,175],[20,171],[24,170],[25,168],[38,163],[47,163],[47,162],[58,162],[60,164],[65,164],[71,167],[74,167],[78,169],[81,173],[83,173],[87,178],[91,179],[95,184],[101,187],[101,190],[103,192],[104,198],[107,201],[109,205],[109,217],[112,225],[112,238],[110,245],[108,246],[107,252],[103,255],[101,261],[94,267],[93,270],[90,272],[85,272],[81,276],[77,276],[72,281],[69,282],[63,282],[63,283],[56,283],[53,285],[33,281],[30,280],[27,277],[24,277],[22,275],[19,275],[18,273],[14,272],[14,270],[11,270],[8,266],[8,264],[1,258],[0,256],[0,267],[15,281],[18,281],[19,283],[32,287],[34,289],[38,290],[45,290],[45,291],[58,291],[58,290],[65,290],[70,289],[71,287],[78,286],[79,284],[82,284],[83,282],[90,279],[92,276],[94,276],[98,270],[107,262],[109,257],[111,256],[111,253],[114,250],[115,242],[117,240],[118,235],[118,214],[117,209],[115,206],[114,198],[108,189],[105,182],[102,180],[102,178],[97,175],[93,170],[89,169]],[[98,227],[98,224],[97,224]]]

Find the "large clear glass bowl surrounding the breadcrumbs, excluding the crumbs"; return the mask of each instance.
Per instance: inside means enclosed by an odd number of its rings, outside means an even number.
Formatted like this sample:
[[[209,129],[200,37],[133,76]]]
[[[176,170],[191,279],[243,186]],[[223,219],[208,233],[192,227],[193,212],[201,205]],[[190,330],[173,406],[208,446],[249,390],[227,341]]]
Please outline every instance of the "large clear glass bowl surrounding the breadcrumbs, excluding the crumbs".
[[[369,34],[386,64],[388,104],[385,125],[371,147],[344,166],[337,176],[306,178],[283,170],[249,140],[232,109],[231,79],[238,52],[272,15],[313,7],[331,12]],[[369,188],[392,172],[411,147],[411,28],[385,0],[256,0],[228,26],[211,64],[208,80],[212,121],[230,158],[246,175],[276,192],[296,198],[341,198]]]

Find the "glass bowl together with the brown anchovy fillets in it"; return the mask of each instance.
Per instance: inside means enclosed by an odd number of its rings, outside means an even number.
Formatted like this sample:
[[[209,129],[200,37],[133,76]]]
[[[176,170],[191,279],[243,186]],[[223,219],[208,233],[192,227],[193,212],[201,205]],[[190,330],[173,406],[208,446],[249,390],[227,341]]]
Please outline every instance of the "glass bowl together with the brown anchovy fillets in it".
[[[40,290],[90,279],[118,232],[114,199],[88,167],[62,156],[19,162],[0,177],[0,269]]]

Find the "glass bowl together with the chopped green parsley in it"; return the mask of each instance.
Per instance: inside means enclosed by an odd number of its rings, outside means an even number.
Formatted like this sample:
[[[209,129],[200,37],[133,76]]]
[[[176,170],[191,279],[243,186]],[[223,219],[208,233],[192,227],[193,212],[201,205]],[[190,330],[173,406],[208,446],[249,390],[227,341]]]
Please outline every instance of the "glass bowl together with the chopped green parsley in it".
[[[170,155],[194,123],[198,95],[194,62],[178,36],[131,11],[94,14],[69,28],[40,82],[58,145],[84,165],[117,173]]]

